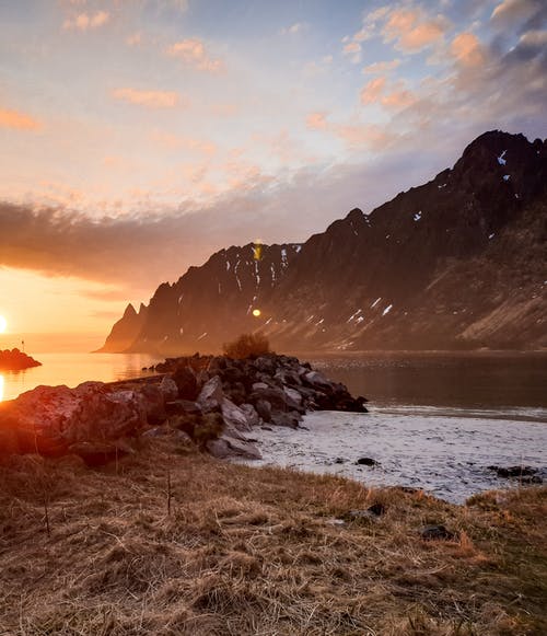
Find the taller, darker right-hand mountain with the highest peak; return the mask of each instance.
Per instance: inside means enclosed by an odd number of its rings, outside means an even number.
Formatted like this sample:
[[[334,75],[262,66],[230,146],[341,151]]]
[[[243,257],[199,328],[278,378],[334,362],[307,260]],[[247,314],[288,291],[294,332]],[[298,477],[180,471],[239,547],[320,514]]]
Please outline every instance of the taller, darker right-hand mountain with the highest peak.
[[[546,184],[546,143],[482,135],[430,183],[312,236],[271,298],[271,336],[303,348],[545,346]]]

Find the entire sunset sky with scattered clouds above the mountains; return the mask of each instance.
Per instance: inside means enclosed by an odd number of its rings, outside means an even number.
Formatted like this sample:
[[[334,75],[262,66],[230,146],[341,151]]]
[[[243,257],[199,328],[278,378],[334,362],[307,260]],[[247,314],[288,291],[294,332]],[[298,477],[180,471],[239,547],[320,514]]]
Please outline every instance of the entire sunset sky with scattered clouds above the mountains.
[[[100,346],[219,248],[545,138],[546,104],[544,0],[0,0],[0,346]]]

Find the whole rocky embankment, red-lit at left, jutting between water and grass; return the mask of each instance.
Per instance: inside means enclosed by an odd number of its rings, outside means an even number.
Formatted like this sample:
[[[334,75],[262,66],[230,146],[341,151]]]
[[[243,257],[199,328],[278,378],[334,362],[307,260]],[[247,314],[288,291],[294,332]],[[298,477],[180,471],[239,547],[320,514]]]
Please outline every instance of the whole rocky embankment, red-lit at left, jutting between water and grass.
[[[77,454],[96,464],[135,453],[142,437],[194,442],[218,458],[259,459],[253,428],[299,427],[309,410],[365,413],[298,358],[167,358],[158,374],[75,389],[37,386],[0,404],[0,453]]]

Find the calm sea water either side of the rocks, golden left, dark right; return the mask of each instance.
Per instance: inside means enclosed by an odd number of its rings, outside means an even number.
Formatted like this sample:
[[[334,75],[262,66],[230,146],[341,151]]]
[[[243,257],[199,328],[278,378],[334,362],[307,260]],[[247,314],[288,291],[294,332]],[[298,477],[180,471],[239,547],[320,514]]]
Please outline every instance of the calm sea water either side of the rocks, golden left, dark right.
[[[36,358],[42,367],[1,372],[3,400],[39,384],[75,386],[86,380],[136,378],[144,374],[143,367],[160,361],[143,354],[40,354]],[[377,407],[547,413],[547,355],[371,354],[307,359]]]

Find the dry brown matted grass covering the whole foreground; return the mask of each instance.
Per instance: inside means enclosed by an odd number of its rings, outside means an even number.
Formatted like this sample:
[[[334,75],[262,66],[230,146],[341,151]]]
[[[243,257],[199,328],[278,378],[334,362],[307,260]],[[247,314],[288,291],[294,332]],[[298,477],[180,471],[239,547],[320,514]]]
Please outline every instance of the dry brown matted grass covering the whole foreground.
[[[547,634],[544,487],[457,507],[150,440],[3,460],[0,499],[2,635]]]

